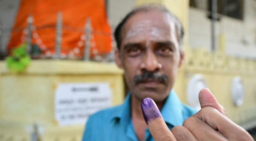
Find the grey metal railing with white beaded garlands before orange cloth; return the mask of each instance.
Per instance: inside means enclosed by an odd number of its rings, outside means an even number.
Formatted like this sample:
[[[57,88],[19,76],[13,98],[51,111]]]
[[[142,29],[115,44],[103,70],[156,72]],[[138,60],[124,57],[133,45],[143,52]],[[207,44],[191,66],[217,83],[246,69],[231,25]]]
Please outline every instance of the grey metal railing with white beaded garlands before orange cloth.
[[[82,59],[85,61],[89,60],[96,60],[96,61],[114,61],[113,57],[113,51],[111,51],[108,54],[100,54],[98,50],[96,49],[91,49],[91,45],[96,44],[95,42],[92,43],[91,39],[94,37],[94,35],[99,35],[99,36],[109,36],[112,38],[110,33],[104,32],[104,31],[97,31],[93,30],[91,27],[91,19],[87,18],[86,23],[84,28],[78,28],[78,27],[72,27],[69,25],[64,25],[62,23],[62,13],[58,12],[57,14],[57,22],[56,24],[51,24],[51,25],[41,25],[41,26],[34,26],[33,22],[34,19],[32,15],[30,14],[26,20],[27,26],[26,27],[18,27],[14,29],[2,29],[1,26],[1,20],[0,20],[0,59],[4,59],[5,56],[7,55],[7,47],[2,47],[2,34],[3,32],[23,32],[23,35],[21,37],[21,42],[26,42],[26,51],[28,54],[31,55],[32,59],[37,58],[37,59]],[[55,36],[55,47],[46,47],[43,43],[41,38],[39,37],[37,31],[38,30],[43,30],[43,29],[49,29],[49,28],[55,28],[56,31],[56,36]],[[63,56],[61,54],[61,51],[63,51],[63,48],[61,48],[61,42],[62,42],[62,30],[68,30],[72,32],[81,32],[81,38],[78,41],[78,46],[79,47],[70,47],[69,53],[70,55],[65,55]],[[33,33],[36,32],[36,33]],[[40,57],[35,57],[32,54],[32,40],[35,39],[38,41],[38,43],[41,43],[40,50],[45,51],[45,54],[41,55]],[[113,39],[112,39],[112,42]],[[113,44],[113,43],[112,43]],[[67,47],[66,47],[67,48]],[[55,50],[54,54],[52,54],[50,51],[47,50]],[[72,50],[73,49],[73,50]],[[83,50],[83,55],[82,56],[75,56],[74,54],[80,53],[80,50]],[[92,59],[90,54],[94,54],[94,58]],[[73,56],[73,57],[72,57]],[[75,56],[75,57],[74,57]],[[105,58],[103,58],[103,57]],[[110,56],[110,57],[109,57]],[[99,59],[100,58],[100,59]],[[103,59],[102,59],[103,58]]]

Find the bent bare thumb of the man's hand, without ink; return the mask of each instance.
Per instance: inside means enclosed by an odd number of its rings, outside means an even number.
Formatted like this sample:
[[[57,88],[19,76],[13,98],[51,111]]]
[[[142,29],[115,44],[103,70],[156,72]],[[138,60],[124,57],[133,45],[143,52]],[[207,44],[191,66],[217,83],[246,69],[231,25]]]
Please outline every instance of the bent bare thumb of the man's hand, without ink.
[[[210,92],[208,88],[203,88],[199,92],[199,102],[200,102],[201,108],[204,108],[206,106],[211,106],[217,109],[222,114],[226,115],[226,109],[218,103],[217,99],[214,97],[214,95]]]

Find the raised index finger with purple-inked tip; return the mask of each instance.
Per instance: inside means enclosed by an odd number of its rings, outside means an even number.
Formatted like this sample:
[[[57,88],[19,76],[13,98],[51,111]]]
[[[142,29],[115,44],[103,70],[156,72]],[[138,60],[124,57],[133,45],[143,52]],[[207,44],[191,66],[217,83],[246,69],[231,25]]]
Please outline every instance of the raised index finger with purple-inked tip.
[[[176,141],[174,135],[167,127],[154,100],[145,98],[142,100],[141,109],[145,122],[155,141]]]

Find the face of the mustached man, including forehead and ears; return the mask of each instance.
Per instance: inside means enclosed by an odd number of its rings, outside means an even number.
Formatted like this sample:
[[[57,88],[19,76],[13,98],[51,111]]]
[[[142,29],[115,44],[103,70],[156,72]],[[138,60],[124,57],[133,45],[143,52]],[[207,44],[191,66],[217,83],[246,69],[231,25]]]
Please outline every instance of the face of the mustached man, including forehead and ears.
[[[172,21],[167,13],[152,10],[136,13],[123,27],[116,62],[139,100],[150,97],[161,102],[172,89],[183,58]]]

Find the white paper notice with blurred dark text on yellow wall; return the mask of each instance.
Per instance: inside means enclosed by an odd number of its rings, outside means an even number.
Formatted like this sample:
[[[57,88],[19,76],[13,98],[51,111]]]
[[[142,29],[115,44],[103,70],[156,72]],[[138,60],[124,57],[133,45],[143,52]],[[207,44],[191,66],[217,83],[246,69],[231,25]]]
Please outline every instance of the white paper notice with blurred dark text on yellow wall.
[[[55,119],[59,125],[84,124],[91,114],[111,105],[108,83],[61,83],[55,91]]]

